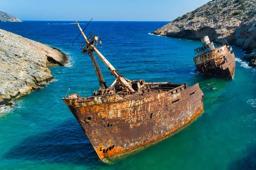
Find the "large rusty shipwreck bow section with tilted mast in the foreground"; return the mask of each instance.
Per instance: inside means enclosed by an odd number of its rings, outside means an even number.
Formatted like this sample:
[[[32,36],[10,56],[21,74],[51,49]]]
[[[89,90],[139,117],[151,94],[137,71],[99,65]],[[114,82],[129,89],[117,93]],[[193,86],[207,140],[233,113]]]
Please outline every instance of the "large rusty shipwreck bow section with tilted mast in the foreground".
[[[82,53],[90,56],[101,88],[90,97],[66,95],[63,101],[102,161],[158,141],[189,124],[204,110],[198,84],[145,83],[124,78],[96,48],[99,37],[85,36]],[[116,77],[107,86],[94,52]]]

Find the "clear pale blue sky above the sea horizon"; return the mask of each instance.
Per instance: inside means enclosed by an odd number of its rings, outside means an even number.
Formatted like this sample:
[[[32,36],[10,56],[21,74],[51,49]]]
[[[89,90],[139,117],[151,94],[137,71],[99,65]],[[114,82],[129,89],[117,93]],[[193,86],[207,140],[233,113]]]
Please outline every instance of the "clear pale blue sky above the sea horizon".
[[[20,20],[171,21],[209,0],[0,0]]]

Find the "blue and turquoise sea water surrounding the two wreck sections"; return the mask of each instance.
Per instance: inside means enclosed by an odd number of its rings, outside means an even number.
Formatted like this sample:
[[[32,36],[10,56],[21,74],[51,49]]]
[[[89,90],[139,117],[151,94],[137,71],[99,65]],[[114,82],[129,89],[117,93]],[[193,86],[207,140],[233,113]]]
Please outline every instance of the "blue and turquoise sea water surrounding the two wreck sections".
[[[201,42],[149,33],[167,22],[98,22],[85,30],[101,37],[98,49],[125,78],[148,82],[199,83],[204,113],[179,133],[115,164],[99,160],[73,114],[61,100],[99,82],[90,57],[82,54],[74,21],[0,23],[0,29],[61,49],[68,66],[50,68],[55,77],[44,89],[16,99],[0,115],[0,170],[241,170],[256,169],[256,69],[241,61],[233,46],[233,80],[194,73],[194,49]],[[80,22],[84,28],[87,22]],[[97,58],[98,59],[98,58]],[[110,85],[114,81],[98,63]],[[214,90],[211,90],[211,86]]]

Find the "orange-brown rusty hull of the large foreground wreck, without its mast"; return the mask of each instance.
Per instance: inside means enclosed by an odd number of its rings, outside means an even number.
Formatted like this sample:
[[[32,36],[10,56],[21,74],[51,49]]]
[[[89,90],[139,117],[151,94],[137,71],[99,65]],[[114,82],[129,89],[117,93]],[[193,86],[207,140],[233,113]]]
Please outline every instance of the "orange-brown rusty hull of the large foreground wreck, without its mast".
[[[198,84],[138,99],[63,98],[102,161],[151,144],[189,124],[204,110]]]

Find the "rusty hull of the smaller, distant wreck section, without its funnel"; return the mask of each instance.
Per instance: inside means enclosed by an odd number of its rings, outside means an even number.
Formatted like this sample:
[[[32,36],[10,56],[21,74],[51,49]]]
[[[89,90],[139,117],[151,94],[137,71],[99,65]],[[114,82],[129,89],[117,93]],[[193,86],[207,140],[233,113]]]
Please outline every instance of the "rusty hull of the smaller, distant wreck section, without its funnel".
[[[236,61],[235,55],[227,46],[207,52],[194,58],[197,70],[203,74],[233,78],[235,74]]]

